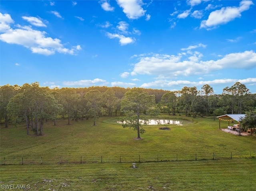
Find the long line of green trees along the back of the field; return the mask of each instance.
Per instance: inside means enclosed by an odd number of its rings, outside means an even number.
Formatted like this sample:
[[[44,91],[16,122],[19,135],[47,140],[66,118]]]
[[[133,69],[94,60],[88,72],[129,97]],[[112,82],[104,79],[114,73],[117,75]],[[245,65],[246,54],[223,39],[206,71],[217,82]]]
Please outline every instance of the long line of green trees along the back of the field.
[[[26,123],[27,134],[31,129],[42,135],[43,124],[58,118],[83,120],[92,118],[94,125],[100,116],[128,116],[146,114],[147,110],[169,115],[220,116],[241,114],[256,109],[256,94],[239,82],[225,87],[221,95],[214,94],[210,85],[183,87],[180,91],[162,89],[88,87],[54,88],[31,84],[4,85],[0,87],[1,124]],[[138,115],[135,115],[138,118]],[[131,115],[132,116],[132,115]],[[127,125],[127,124],[126,124]],[[138,130],[138,129],[137,129]],[[140,129],[138,131],[143,131]],[[138,132],[139,136],[139,132]]]

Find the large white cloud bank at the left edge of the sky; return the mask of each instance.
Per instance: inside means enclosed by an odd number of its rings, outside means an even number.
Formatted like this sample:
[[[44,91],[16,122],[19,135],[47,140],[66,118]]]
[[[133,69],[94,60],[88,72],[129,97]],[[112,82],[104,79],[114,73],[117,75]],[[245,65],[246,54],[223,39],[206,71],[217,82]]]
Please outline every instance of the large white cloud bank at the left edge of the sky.
[[[1,31],[0,40],[9,44],[22,45],[32,51],[43,55],[52,55],[55,52],[74,55],[77,50],[80,50],[80,45],[70,49],[64,47],[61,40],[58,38],[47,37],[44,31],[34,30],[31,26],[16,25],[16,28],[11,28],[12,19],[10,15],[4,16],[4,31]],[[1,23],[2,25],[2,23]]]

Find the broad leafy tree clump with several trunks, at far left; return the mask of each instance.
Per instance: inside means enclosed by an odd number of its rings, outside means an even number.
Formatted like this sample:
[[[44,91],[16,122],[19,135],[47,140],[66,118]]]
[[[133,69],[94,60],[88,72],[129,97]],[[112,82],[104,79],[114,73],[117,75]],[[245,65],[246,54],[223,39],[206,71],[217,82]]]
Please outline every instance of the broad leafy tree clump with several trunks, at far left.
[[[43,134],[45,120],[53,119],[58,112],[58,104],[48,88],[39,87],[39,83],[24,84],[20,93],[10,99],[7,106],[8,114],[15,122],[26,121],[27,134],[29,125],[38,135]],[[35,123],[35,128],[33,124]]]

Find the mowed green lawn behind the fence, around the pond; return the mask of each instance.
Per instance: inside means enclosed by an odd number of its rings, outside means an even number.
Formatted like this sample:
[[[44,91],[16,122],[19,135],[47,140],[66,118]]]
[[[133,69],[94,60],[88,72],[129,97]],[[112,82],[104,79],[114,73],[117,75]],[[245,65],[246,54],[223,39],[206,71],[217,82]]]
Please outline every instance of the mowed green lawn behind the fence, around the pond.
[[[44,125],[44,136],[26,135],[25,126],[1,128],[0,162],[6,164],[58,162],[166,161],[256,157],[256,136],[237,136],[219,130],[219,121],[211,118],[161,116],[182,120],[184,125],[145,126],[142,140],[134,140],[136,131],[123,128],[118,118],[58,121]],[[227,122],[221,121],[221,128]]]

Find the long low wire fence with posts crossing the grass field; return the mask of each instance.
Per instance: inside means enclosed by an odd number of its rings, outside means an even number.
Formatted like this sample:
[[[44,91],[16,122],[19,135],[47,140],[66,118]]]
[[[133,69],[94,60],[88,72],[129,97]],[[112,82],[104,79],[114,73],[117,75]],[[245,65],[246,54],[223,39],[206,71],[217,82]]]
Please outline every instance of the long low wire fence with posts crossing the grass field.
[[[59,157],[4,157],[0,165],[11,164],[62,164],[62,163],[127,163],[127,162],[159,162],[159,161],[185,161],[185,160],[209,160],[209,159],[234,159],[234,158],[256,158],[256,152],[229,152],[229,153],[211,153],[202,155],[195,154],[169,154],[169,155],[147,155],[138,154],[133,156],[59,156]]]

